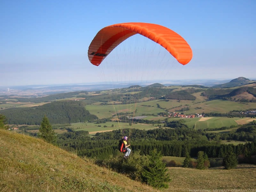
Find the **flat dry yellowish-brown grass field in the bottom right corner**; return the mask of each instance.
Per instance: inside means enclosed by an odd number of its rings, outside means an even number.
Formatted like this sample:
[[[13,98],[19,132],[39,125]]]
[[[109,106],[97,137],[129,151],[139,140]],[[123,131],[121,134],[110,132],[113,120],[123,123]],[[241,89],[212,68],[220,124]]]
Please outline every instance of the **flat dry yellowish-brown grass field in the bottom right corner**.
[[[252,168],[251,168],[252,167]],[[166,191],[189,189],[256,189],[256,167],[239,166],[236,169],[198,170],[180,167],[168,168],[172,181]]]

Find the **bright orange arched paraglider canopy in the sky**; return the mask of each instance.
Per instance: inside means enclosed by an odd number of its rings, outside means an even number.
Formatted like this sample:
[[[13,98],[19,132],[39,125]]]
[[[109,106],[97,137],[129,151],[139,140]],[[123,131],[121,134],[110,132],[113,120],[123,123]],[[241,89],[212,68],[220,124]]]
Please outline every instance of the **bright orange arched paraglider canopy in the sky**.
[[[120,23],[102,28],[93,38],[88,49],[90,62],[99,66],[116,46],[135,34],[160,44],[183,65],[192,59],[187,41],[173,30],[152,23]]]

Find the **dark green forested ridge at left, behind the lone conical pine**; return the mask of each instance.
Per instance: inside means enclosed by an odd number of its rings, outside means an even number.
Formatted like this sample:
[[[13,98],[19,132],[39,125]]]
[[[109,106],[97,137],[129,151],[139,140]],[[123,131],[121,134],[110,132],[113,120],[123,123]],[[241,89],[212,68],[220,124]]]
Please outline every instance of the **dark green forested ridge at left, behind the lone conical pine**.
[[[8,124],[39,125],[43,116],[47,116],[50,123],[64,124],[97,120],[85,109],[81,101],[53,101],[41,106],[30,108],[9,108],[2,110],[8,117]]]

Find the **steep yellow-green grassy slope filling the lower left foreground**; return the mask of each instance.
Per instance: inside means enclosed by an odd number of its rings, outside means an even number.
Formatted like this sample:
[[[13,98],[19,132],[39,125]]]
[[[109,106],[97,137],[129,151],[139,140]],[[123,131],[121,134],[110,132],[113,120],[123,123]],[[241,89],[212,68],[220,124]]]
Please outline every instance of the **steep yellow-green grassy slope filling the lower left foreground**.
[[[0,191],[155,191],[22,134],[0,130],[0,154]]]

